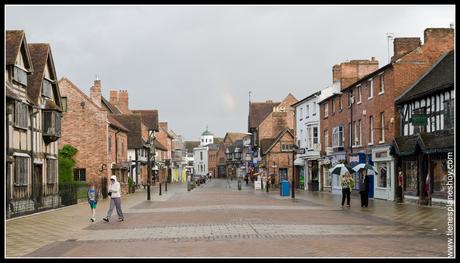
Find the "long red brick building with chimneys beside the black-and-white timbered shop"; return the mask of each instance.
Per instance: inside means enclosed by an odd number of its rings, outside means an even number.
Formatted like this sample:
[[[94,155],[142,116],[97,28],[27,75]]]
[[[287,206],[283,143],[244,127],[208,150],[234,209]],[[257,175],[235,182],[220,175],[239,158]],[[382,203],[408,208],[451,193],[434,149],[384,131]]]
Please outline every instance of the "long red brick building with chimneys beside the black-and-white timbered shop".
[[[428,28],[424,32],[423,45],[419,38],[395,38],[395,55],[389,64],[341,86],[342,94],[335,94],[321,103],[320,127],[324,134],[327,131],[329,140],[325,144],[330,145],[334,138],[332,127],[343,127],[342,150],[346,160],[352,165],[372,164],[379,172],[371,176],[371,196],[375,198],[395,198],[397,164],[391,153],[391,143],[400,129],[395,98],[440,56],[453,49],[453,33],[453,29]],[[326,113],[334,114],[333,107],[340,98],[342,111],[332,118],[326,117]]]

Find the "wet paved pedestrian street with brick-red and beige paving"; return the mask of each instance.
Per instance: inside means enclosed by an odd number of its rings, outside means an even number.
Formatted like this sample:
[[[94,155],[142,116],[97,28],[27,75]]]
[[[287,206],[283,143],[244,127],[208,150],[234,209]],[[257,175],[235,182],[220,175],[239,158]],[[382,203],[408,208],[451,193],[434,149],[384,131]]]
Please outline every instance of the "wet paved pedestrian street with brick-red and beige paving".
[[[187,192],[168,185],[152,200],[122,196],[103,222],[108,200],[90,222],[86,203],[6,222],[7,257],[447,257],[447,211],[370,200],[341,208],[341,196],[253,190],[213,179]]]

